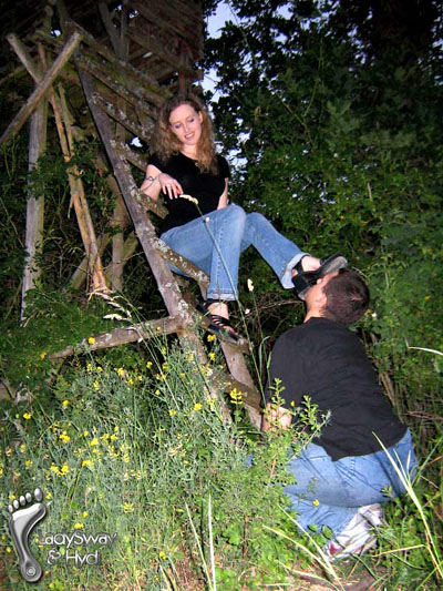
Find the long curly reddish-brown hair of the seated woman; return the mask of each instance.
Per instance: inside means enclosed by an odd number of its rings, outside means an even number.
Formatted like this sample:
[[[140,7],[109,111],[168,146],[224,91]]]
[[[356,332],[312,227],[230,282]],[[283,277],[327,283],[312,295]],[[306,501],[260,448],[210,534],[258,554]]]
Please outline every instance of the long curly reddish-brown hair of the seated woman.
[[[155,152],[163,162],[166,162],[173,154],[177,154],[182,150],[182,143],[171,130],[169,124],[171,113],[182,104],[188,104],[196,113],[202,113],[203,116],[202,135],[197,144],[198,169],[200,172],[217,174],[213,123],[203,103],[195,94],[177,94],[163,103],[154,131],[153,146]]]

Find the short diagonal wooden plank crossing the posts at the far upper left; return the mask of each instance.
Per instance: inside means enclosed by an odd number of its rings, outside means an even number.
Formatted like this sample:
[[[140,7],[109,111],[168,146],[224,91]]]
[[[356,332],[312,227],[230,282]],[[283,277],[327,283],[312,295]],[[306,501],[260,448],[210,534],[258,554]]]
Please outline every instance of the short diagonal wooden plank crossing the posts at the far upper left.
[[[82,35],[78,32],[74,32],[70,39],[64,44],[61,53],[58,55],[51,68],[45,73],[43,80],[40,84],[37,85],[25,104],[20,109],[19,113],[8,125],[3,135],[0,137],[0,145],[11,140],[14,135],[19,133],[30,114],[34,111],[41,99],[48,92],[54,80],[60,73],[60,70],[69,61],[73,52],[79,47],[82,40]]]

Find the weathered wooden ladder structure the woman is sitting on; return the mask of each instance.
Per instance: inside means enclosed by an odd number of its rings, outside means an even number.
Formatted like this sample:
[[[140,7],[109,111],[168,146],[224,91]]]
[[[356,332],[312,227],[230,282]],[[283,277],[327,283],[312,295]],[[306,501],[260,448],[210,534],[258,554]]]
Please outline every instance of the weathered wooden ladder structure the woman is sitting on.
[[[28,7],[24,7],[28,4]],[[185,90],[200,78],[195,62],[203,55],[203,16],[198,0],[32,0],[20,3],[23,18],[34,14],[32,31],[23,23],[23,31],[11,33],[8,41],[35,86],[0,143],[19,133],[31,118],[29,166],[33,167],[44,151],[49,104],[53,112],[60,147],[66,163],[75,154],[75,146],[86,134],[96,134],[107,154],[111,169],[107,182],[117,195],[113,213],[116,227],[133,223],[146,261],[157,283],[168,316],[128,328],[117,328],[96,335],[91,347],[102,348],[148,338],[153,327],[164,334],[176,333],[183,346],[190,347],[202,363],[207,363],[205,348],[196,326],[202,323],[195,309],[184,299],[177,277],[168,262],[183,268],[205,291],[207,276],[182,256],[172,252],[155,234],[148,212],[164,215],[164,208],[142,195],[133,179],[133,167],[142,171],[146,161],[132,150],[134,137],[150,144],[159,104],[177,90]],[[55,24],[54,24],[55,22]],[[23,35],[24,39],[23,39]],[[85,103],[82,126],[73,124],[66,94],[78,93]],[[103,174],[109,164],[97,162]],[[71,200],[83,240],[85,258],[76,269],[75,287],[90,278],[92,293],[110,297],[111,291],[122,287],[125,258],[136,245],[134,234],[126,241],[123,233],[112,238],[96,236],[87,206],[87,195],[75,165],[68,169]],[[38,254],[44,231],[42,195],[28,200],[25,247],[29,253],[23,276],[23,315],[25,293],[39,276]],[[112,243],[112,244],[111,244]],[[112,248],[111,272],[103,268],[102,255]],[[220,343],[227,371],[213,376],[229,390],[244,393],[244,403],[253,422],[257,424],[259,396],[248,373],[245,347]],[[247,345],[247,344],[246,344]],[[75,347],[53,357],[74,353]]]

